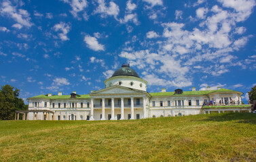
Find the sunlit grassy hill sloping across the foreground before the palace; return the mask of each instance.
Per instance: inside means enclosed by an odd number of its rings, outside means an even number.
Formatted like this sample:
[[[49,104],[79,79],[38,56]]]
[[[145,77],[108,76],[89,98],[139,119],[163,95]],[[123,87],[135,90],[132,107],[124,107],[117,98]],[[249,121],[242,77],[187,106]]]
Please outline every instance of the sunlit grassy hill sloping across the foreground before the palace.
[[[0,121],[0,161],[256,161],[256,114]]]

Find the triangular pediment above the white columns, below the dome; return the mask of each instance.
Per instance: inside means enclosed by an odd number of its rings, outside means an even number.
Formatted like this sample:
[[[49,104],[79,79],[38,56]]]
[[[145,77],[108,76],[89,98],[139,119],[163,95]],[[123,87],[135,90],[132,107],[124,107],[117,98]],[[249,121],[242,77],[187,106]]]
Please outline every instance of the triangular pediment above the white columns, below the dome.
[[[138,93],[138,92],[144,92],[144,91],[116,85],[116,86],[111,86],[108,88],[97,90],[95,92],[92,92],[91,94],[119,94],[119,93],[121,94],[121,93]]]

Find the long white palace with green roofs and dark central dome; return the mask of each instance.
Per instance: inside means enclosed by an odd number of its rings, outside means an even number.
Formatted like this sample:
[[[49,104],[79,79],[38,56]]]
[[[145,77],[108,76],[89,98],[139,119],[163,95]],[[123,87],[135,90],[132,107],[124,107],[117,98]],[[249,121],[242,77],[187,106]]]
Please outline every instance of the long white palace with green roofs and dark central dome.
[[[29,120],[118,120],[144,119],[149,117],[170,117],[196,115],[212,111],[248,111],[241,105],[241,94],[236,90],[218,87],[217,90],[175,92],[147,92],[147,81],[123,64],[113,76],[104,81],[105,88],[92,90],[89,94],[70,95],[40,94],[30,97],[29,110],[16,111]],[[205,109],[203,109],[205,106]],[[227,106],[230,105],[230,106]]]

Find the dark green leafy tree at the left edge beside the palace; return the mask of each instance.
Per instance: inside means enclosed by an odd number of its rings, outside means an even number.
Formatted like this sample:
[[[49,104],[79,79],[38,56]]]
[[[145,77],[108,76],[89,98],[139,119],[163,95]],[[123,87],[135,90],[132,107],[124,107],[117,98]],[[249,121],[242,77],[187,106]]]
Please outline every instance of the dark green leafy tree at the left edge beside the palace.
[[[18,98],[20,90],[9,84],[1,86],[0,90],[0,119],[14,119],[16,110],[28,109],[24,101]]]

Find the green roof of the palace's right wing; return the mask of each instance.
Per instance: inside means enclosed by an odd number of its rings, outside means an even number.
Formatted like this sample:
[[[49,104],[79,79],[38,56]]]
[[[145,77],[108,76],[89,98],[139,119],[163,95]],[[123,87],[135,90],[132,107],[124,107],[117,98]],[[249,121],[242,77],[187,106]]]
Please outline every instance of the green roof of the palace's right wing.
[[[186,96],[186,95],[207,95],[213,92],[238,92],[236,90],[229,90],[221,88],[219,90],[196,90],[196,91],[183,91],[182,94],[175,94],[175,92],[150,92],[152,97],[160,96]]]

